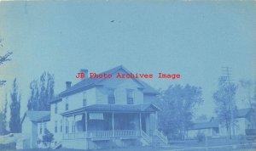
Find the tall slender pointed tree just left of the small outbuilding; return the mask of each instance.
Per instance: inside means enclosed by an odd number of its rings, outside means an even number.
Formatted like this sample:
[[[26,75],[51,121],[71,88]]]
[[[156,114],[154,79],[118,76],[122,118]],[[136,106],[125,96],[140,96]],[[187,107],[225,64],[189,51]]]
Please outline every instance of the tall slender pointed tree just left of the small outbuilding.
[[[11,104],[10,104],[10,120],[9,130],[14,133],[21,131],[20,123],[20,93],[18,92],[17,80],[15,78],[12,90],[10,92]]]

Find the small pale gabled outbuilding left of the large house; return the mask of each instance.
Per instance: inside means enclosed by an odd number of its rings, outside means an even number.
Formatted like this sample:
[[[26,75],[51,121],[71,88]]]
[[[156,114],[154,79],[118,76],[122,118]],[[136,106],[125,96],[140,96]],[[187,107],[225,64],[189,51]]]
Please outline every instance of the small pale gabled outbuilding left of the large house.
[[[38,140],[42,139],[49,120],[49,111],[26,111],[21,120],[22,135],[28,138],[24,141],[23,148],[38,147]]]

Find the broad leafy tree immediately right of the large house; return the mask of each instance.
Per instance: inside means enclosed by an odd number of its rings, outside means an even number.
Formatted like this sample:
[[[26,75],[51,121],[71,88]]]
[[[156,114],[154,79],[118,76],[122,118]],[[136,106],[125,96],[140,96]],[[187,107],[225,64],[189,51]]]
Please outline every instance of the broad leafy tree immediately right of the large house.
[[[192,126],[196,105],[202,103],[201,87],[170,86],[160,95],[159,126],[169,137],[186,136],[187,129]]]

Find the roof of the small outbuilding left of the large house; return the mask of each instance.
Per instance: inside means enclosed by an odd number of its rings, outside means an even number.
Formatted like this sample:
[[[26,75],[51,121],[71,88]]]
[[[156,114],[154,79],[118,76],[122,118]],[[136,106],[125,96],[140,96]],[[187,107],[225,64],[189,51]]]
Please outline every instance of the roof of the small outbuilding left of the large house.
[[[21,122],[23,122],[23,120],[25,119],[25,116],[27,116],[27,118],[31,121],[34,122],[39,122],[39,121],[49,121],[50,120],[50,113],[49,111],[26,111],[23,119]]]

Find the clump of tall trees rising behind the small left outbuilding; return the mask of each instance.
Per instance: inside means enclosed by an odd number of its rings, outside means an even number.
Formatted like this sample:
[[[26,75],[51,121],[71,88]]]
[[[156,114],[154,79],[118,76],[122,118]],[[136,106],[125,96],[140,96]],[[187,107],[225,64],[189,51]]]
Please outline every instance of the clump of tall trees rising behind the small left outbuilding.
[[[44,72],[40,80],[30,83],[31,97],[27,103],[28,110],[49,110],[49,100],[54,97],[54,75]]]

